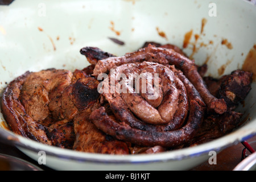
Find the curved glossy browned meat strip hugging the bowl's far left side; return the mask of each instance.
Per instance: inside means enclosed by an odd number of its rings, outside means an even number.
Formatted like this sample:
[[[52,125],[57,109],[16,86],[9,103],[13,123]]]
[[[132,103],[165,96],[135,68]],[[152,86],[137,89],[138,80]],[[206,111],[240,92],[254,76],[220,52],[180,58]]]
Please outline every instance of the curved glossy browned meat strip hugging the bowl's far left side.
[[[20,89],[30,75],[31,72],[26,72],[19,76],[10,82],[3,92],[1,101],[3,117],[5,117],[10,130],[15,134],[51,145],[52,142],[46,134],[46,128],[32,119],[19,101]]]

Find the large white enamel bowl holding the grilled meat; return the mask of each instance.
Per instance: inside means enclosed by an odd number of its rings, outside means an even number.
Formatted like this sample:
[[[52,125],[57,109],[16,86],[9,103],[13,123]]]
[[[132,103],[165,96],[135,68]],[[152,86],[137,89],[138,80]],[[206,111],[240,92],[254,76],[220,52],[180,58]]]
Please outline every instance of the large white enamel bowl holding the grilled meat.
[[[183,46],[184,35],[195,34],[197,64],[208,60],[208,75],[223,74],[242,67],[249,50],[256,44],[256,7],[242,0],[109,0],[109,1],[28,1],[15,0],[0,6],[0,89],[26,71],[47,68],[74,71],[88,65],[80,49],[95,46],[115,55],[134,51],[146,41]],[[206,19],[201,34],[201,22]],[[162,32],[162,33],[161,33]],[[164,34],[165,36],[163,36]],[[162,36],[160,36],[162,35]],[[109,38],[121,40],[121,46]],[[231,49],[222,40],[232,44]],[[207,45],[206,45],[207,44]],[[205,46],[206,45],[206,46]],[[46,152],[46,165],[58,170],[185,170],[209,159],[209,151],[219,152],[256,133],[256,85],[239,111],[250,118],[236,131],[196,147],[154,155],[101,155],[46,146],[6,130],[1,119],[1,138],[38,160]],[[2,93],[2,92],[1,92]]]

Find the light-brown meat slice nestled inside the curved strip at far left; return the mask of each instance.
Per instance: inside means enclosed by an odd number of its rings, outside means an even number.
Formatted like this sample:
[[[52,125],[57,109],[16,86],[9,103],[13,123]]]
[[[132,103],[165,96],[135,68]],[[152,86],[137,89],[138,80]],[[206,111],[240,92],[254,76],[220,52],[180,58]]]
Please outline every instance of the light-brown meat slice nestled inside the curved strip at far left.
[[[71,84],[72,73],[65,70],[47,69],[31,73],[24,82],[20,102],[28,115],[35,121],[42,121],[49,115],[49,107],[55,107],[57,100]]]

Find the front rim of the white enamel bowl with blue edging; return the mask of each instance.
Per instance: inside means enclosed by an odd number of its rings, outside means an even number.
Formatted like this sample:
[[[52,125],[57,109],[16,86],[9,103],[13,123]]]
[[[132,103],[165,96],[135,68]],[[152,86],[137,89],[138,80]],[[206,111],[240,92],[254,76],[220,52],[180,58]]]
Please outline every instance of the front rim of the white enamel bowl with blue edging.
[[[208,155],[209,151],[220,152],[226,147],[237,144],[242,140],[256,135],[255,130],[247,130],[243,134],[237,134],[240,130],[225,135],[224,137],[199,144],[198,146],[181,148],[172,151],[161,152],[159,154],[138,154],[138,155],[109,155],[109,154],[94,154],[89,152],[80,152],[71,149],[63,149],[56,146],[48,146],[36,142],[32,139],[24,138],[20,135],[14,134],[12,131],[2,129],[0,127],[0,137],[5,138],[13,143],[17,148],[26,148],[27,150],[38,153],[45,151],[47,155],[60,159],[75,160],[77,162],[94,162],[94,163],[108,163],[108,164],[134,164],[134,163],[155,163],[168,162],[171,160],[183,160],[194,158],[201,155]]]

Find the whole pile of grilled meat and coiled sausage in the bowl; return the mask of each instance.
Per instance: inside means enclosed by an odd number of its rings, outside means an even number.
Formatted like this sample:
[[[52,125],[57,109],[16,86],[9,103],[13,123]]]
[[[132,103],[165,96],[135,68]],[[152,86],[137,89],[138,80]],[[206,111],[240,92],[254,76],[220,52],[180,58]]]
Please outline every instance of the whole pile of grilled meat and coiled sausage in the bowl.
[[[207,65],[154,42],[121,57],[96,47],[80,53],[89,67],[26,72],[10,82],[1,106],[11,131],[77,151],[152,154],[208,142],[242,123],[234,109],[250,92],[249,72],[205,77]],[[112,81],[113,72],[122,78]]]

